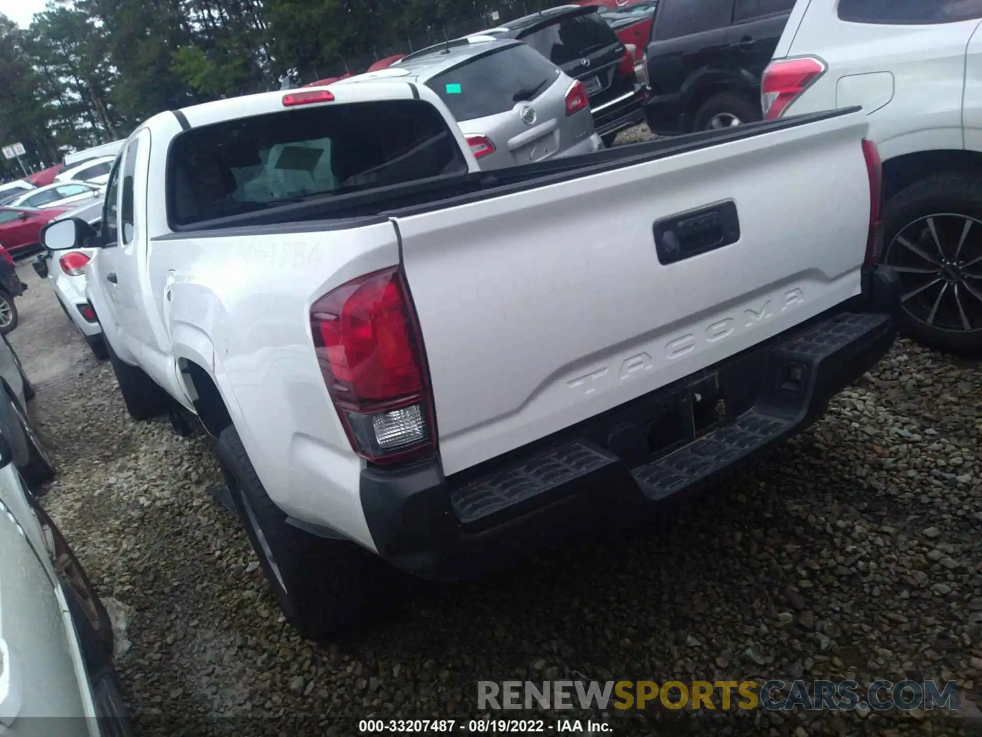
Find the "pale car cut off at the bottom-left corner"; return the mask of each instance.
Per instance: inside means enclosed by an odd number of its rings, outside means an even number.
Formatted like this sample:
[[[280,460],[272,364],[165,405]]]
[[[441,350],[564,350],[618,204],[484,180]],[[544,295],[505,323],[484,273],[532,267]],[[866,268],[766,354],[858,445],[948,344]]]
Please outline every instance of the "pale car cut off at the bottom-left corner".
[[[125,737],[110,619],[13,460],[2,434],[0,734]]]

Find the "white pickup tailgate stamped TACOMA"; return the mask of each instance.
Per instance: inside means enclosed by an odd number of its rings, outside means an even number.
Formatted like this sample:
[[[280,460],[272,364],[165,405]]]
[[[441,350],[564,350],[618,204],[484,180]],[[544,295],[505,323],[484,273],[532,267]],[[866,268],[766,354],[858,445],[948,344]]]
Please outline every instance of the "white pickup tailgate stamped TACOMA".
[[[680,144],[655,160],[394,217],[444,473],[858,294],[866,129],[852,112]]]

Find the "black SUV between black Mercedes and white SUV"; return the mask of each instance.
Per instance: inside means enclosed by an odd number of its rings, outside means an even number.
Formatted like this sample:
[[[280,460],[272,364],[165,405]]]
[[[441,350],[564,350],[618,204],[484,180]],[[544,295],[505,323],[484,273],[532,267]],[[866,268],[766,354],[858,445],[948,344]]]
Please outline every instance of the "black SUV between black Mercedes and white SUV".
[[[646,52],[653,133],[760,120],[760,78],[794,0],[662,0]]]

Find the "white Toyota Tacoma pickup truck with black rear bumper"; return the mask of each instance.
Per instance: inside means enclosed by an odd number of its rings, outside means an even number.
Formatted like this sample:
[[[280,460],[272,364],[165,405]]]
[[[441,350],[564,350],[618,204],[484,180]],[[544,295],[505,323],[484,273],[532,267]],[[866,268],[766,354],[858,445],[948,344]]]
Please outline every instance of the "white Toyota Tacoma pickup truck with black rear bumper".
[[[857,109],[481,173],[399,82],[161,113],[109,183],[88,297],[131,415],[217,438],[286,615],[657,513],[889,350]]]

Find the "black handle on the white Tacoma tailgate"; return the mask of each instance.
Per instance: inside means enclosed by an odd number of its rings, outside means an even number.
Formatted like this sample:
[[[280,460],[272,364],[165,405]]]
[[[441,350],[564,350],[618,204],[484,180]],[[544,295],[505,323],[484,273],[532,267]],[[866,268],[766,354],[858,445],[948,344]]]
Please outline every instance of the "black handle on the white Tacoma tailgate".
[[[654,234],[655,250],[663,264],[730,246],[739,240],[736,202],[728,199],[657,220]]]

